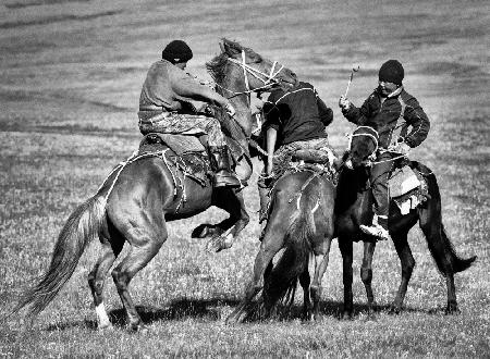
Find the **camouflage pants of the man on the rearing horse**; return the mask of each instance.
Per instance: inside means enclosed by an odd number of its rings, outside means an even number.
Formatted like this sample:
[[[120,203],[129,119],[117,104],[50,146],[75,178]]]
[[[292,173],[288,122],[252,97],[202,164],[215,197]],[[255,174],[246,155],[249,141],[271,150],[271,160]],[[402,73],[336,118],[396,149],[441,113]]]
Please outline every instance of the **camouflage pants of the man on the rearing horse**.
[[[151,132],[189,136],[208,136],[208,146],[225,146],[221,125],[215,117],[201,114],[175,112],[139,111],[139,131],[143,135]]]

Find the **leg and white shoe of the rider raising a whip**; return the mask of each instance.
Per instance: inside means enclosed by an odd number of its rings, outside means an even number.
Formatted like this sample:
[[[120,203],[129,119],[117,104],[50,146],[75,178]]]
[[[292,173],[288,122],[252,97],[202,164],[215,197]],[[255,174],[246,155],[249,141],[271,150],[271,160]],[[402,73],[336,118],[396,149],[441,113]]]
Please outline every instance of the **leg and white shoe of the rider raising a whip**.
[[[377,163],[371,168],[371,188],[375,197],[375,218],[371,225],[362,225],[360,230],[380,240],[390,238],[388,232],[388,215],[390,197],[388,194],[388,178],[393,168],[390,153],[385,152],[378,157]]]

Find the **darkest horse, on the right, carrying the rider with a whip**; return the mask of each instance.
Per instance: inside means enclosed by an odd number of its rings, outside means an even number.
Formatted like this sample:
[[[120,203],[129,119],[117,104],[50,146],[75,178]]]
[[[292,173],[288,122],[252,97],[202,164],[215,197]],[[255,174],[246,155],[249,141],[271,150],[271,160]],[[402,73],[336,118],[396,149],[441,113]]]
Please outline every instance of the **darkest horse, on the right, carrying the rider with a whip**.
[[[378,147],[378,133],[370,127],[359,126],[353,133],[351,148],[344,154],[344,163],[352,164],[343,166],[340,173],[336,188],[335,201],[335,233],[339,237],[339,247],[343,258],[343,282],[344,282],[344,317],[351,317],[353,311],[352,293],[352,261],[353,240],[365,239],[359,230],[359,224],[372,221],[372,195],[369,190],[369,173],[365,164]],[[406,160],[407,161],[407,160]],[[445,276],[448,286],[446,313],[458,312],[456,302],[456,290],[454,287],[454,274],[469,268],[476,256],[462,259],[457,257],[448,238],[442,224],[441,195],[436,181],[436,175],[427,166],[416,161],[409,161],[414,171],[420,172],[426,178],[428,186],[428,198],[417,208],[412,209],[408,214],[402,215],[396,203],[390,202],[389,232],[395,246],[402,264],[402,282],[396,297],[391,305],[393,312],[400,312],[405,298],[408,281],[415,267],[411,247],[407,242],[408,231],[417,223],[427,239],[430,253],[432,255],[439,271]],[[372,312],[375,297],[372,294],[372,257],[376,243],[364,243],[364,258],[360,268],[360,277],[366,288],[369,313]]]

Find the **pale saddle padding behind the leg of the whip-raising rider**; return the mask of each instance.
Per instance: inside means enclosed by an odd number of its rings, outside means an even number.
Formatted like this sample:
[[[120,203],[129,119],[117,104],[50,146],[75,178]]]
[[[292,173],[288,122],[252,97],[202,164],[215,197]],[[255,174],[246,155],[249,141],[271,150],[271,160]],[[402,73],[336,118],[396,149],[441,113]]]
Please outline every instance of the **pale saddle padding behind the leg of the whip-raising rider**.
[[[403,215],[430,198],[427,178],[409,163],[404,161],[399,164],[388,180],[390,198],[399,206]]]

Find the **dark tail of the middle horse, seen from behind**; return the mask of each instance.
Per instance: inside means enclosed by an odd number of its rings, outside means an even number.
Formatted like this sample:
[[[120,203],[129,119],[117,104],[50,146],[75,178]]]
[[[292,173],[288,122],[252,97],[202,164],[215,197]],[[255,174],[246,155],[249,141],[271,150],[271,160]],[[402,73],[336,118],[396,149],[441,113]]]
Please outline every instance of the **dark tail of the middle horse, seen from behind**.
[[[305,191],[299,208],[291,215],[284,243],[285,250],[266,277],[264,300],[266,307],[273,307],[279,300],[292,304],[299,274],[308,265],[311,252],[310,238],[316,233],[311,196]]]

